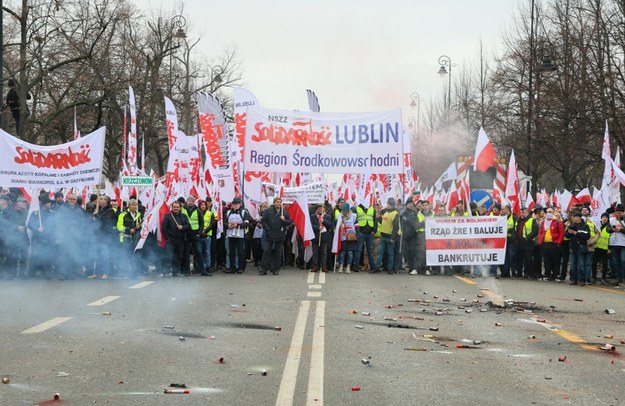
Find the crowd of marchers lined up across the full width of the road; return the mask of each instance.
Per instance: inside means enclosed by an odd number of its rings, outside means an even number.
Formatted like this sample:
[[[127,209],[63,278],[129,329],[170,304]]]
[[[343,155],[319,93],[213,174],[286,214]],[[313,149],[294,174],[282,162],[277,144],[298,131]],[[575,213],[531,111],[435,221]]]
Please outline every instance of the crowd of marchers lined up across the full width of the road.
[[[166,244],[150,233],[139,241],[145,208],[136,198],[119,206],[105,195],[87,202],[74,193],[42,191],[39,209],[29,214],[28,201],[15,189],[0,191],[0,271],[5,279],[140,278],[149,272],[179,277],[215,272],[241,274],[253,264],[260,275],[278,275],[286,266],[311,272],[387,272],[410,275],[469,273],[481,276],[564,281],[571,284],[623,283],[625,219],[618,204],[591,219],[589,206],[567,213],[555,207],[490,210],[460,201],[447,213],[427,200],[389,198],[385,207],[350,206],[343,199],[310,205],[314,231],[312,258],[295,231],[286,205],[276,197],[252,217],[236,197],[217,212],[210,197],[179,198],[161,220]],[[507,221],[505,263],[487,267],[426,265],[425,222],[433,216],[504,216]],[[222,221],[221,227],[218,222]],[[218,230],[223,231],[219,233]],[[295,238],[294,238],[295,233]],[[296,247],[293,247],[296,245]],[[334,247],[333,247],[334,245]],[[293,248],[296,248],[295,250]],[[293,252],[297,252],[295,255]]]

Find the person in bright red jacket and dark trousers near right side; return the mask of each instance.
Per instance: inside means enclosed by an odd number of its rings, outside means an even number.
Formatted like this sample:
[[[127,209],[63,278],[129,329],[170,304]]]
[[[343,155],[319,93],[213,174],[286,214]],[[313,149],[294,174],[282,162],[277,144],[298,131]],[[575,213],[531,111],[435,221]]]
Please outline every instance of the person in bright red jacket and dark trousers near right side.
[[[544,279],[554,281],[560,271],[560,246],[564,241],[564,224],[554,217],[553,208],[548,207],[545,221],[538,231],[538,245],[545,265]]]

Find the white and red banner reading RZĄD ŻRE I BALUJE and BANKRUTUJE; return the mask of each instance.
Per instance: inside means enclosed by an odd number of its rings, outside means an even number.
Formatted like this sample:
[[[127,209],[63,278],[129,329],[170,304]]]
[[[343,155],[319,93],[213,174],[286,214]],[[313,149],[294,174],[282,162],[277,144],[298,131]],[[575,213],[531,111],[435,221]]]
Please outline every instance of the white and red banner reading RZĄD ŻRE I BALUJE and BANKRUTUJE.
[[[428,217],[428,265],[500,265],[506,256],[506,217]]]

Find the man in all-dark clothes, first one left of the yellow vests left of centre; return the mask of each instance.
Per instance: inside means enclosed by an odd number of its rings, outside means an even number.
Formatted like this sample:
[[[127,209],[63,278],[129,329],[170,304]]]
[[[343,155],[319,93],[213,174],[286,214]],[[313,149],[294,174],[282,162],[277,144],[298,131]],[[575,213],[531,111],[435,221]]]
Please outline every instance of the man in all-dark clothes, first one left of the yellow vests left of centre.
[[[171,204],[171,212],[162,223],[163,233],[167,238],[167,257],[170,259],[171,276],[189,276],[188,232],[191,229],[189,218],[181,213],[179,202]]]

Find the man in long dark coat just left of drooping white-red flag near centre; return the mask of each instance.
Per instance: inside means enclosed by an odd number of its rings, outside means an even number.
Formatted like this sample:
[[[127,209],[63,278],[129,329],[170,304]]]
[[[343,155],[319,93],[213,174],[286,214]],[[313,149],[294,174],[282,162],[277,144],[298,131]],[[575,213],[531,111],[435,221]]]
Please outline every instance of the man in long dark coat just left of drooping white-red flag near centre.
[[[265,247],[263,248],[263,259],[261,261],[261,275],[266,275],[268,271],[278,275],[282,268],[282,252],[286,236],[286,228],[293,224],[288,211],[282,207],[282,199],[273,199],[273,207],[268,208],[263,213],[261,219],[264,235]]]

